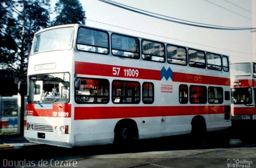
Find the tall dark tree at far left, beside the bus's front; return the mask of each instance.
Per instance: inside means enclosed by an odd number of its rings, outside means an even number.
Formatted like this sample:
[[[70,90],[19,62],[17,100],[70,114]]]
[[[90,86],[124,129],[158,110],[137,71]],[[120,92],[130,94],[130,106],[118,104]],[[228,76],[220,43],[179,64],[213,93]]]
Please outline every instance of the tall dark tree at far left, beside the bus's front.
[[[2,0],[0,64],[13,69],[16,75],[25,75],[28,62],[28,44],[35,32],[48,27],[50,0]],[[18,10],[21,9],[21,10]],[[13,18],[12,15],[17,17]]]

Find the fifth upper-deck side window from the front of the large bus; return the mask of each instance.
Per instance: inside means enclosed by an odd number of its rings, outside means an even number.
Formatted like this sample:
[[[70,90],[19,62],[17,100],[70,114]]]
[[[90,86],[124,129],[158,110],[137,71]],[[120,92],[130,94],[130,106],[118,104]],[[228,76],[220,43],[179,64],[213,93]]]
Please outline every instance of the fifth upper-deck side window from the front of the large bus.
[[[199,50],[188,49],[188,64],[197,68],[206,68],[205,53]]]

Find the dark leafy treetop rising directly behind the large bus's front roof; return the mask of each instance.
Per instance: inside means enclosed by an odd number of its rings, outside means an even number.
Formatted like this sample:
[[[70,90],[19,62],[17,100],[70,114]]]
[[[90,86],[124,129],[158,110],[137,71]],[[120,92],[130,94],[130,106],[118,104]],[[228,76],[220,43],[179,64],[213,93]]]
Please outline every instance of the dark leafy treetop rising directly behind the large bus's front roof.
[[[63,24],[85,24],[85,11],[79,0],[58,0],[54,11],[57,13],[52,26]]]

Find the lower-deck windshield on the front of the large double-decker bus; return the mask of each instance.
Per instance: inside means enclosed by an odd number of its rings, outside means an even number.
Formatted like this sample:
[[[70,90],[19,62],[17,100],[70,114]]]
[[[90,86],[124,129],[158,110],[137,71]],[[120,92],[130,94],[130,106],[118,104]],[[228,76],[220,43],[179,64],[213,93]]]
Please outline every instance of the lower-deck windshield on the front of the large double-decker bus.
[[[29,78],[30,101],[36,103],[68,103],[70,74],[39,74]]]

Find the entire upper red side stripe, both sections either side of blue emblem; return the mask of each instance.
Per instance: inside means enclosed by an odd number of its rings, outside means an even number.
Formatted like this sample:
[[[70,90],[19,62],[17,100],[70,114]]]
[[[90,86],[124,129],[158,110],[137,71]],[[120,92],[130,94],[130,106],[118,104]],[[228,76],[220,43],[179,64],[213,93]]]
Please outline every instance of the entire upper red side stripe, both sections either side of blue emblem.
[[[136,76],[136,73],[135,73],[136,70],[138,70],[138,76]],[[128,72],[132,72],[132,73],[128,74]],[[116,76],[116,77],[122,77],[122,78],[161,80],[161,70],[131,68],[126,66],[114,66],[114,65],[77,62],[77,61],[75,62],[75,73],[96,75],[96,76]],[[116,75],[114,75],[115,73]],[[130,74],[132,75],[129,76]],[[186,73],[180,73],[180,72],[173,72],[173,82],[216,84],[216,85],[230,86],[229,78],[186,74]]]

